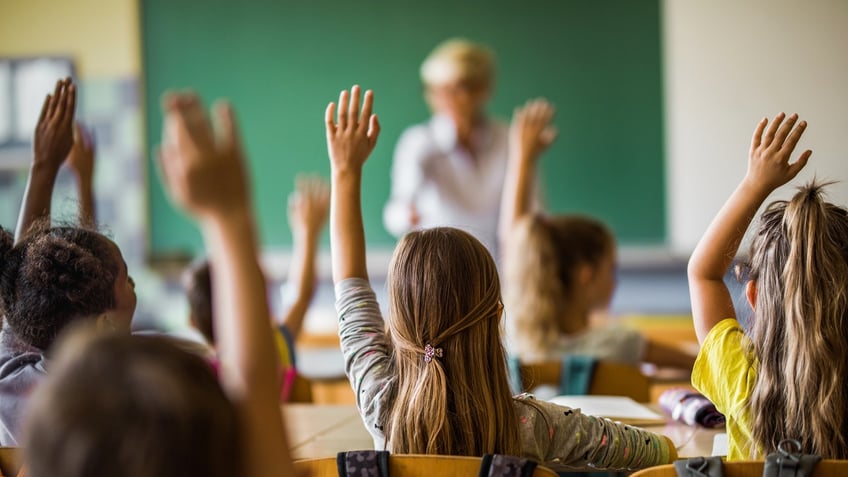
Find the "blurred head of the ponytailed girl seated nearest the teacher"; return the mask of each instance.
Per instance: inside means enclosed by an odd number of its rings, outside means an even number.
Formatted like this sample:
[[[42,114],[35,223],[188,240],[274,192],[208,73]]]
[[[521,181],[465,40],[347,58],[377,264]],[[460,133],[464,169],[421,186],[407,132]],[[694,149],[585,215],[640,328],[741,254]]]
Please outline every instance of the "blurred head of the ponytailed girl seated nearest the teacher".
[[[583,331],[589,313],[612,300],[615,238],[603,223],[532,215],[516,224],[507,247],[504,297],[522,358],[540,358],[559,335]]]

